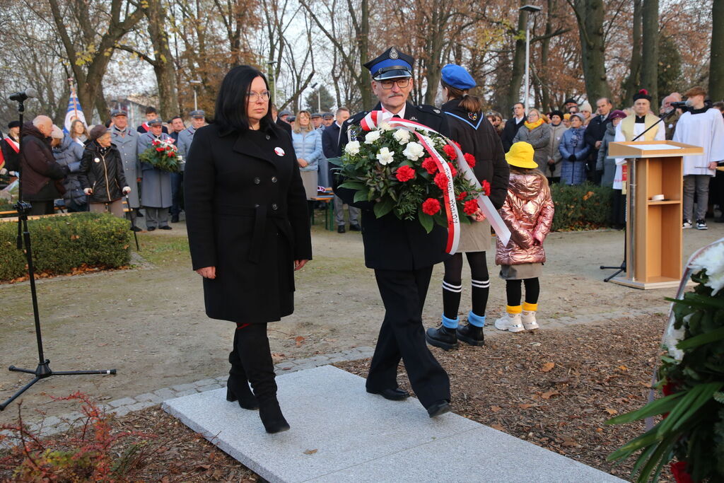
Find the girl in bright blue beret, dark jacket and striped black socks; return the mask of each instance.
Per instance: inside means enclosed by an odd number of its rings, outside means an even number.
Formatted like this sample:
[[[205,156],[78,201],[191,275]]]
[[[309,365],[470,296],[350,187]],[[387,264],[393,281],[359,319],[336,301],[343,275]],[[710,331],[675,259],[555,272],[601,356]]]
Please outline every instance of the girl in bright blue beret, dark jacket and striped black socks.
[[[490,201],[500,209],[508,195],[510,170],[505,161],[505,151],[494,127],[481,112],[478,98],[469,96],[468,89],[476,83],[468,71],[455,64],[442,68],[442,89],[447,102],[442,111],[447,114],[450,138],[460,143],[463,153],[475,157],[473,172],[482,184],[490,183]],[[460,225],[458,253],[445,261],[445,277],[442,279],[442,324],[437,329],[427,329],[426,339],[431,345],[452,349],[458,339],[470,345],[483,345],[485,308],[488,303],[490,280],[485,252],[490,247],[490,224],[482,215],[472,224]],[[460,293],[463,290],[463,253],[470,265],[472,303],[468,323],[458,326]]]

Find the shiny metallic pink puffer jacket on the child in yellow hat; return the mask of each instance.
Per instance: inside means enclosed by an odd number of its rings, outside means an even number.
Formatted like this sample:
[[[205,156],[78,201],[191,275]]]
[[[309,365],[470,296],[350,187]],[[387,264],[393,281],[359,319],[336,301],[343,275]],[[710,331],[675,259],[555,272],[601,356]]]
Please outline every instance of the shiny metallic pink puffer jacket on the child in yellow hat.
[[[508,196],[500,216],[510,229],[507,246],[497,239],[496,265],[535,264],[545,261],[543,245],[533,244],[533,235],[544,240],[553,221],[553,200],[545,178],[510,172]]]

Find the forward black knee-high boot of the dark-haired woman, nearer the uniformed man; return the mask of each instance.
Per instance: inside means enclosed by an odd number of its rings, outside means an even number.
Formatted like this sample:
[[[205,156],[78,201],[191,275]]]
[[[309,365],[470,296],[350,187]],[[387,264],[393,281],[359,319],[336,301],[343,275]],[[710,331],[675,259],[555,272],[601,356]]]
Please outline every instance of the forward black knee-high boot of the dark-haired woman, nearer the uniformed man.
[[[266,324],[250,324],[237,330],[236,350],[259,403],[259,418],[268,433],[289,429],[277,400],[274,362],[271,360]]]

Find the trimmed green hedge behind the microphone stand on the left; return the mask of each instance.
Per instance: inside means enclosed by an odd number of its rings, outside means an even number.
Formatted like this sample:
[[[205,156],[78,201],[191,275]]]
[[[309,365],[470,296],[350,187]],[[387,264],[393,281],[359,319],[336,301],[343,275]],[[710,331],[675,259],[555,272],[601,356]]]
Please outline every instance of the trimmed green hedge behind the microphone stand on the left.
[[[36,273],[67,274],[83,264],[117,268],[130,261],[129,222],[110,214],[74,213],[28,221]],[[27,273],[17,223],[0,223],[0,281]]]

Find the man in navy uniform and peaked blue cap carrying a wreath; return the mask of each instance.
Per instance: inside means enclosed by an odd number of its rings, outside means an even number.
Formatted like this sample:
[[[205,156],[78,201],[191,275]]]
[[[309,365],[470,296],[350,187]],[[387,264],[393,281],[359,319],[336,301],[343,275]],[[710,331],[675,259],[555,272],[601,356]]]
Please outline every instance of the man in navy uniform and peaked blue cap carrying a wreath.
[[[411,56],[387,49],[364,64],[372,77],[372,91],[379,99],[374,108],[426,125],[447,135],[447,119],[433,106],[416,106],[407,101],[413,88]],[[366,116],[361,112],[342,125],[340,145],[345,146],[353,130]],[[346,203],[362,211],[362,238],[365,264],[374,269],[385,314],[372,357],[367,392],[391,400],[409,396],[397,385],[400,358],[410,384],[429,416],[450,411],[450,379],[425,343],[422,308],[432,275],[432,267],[447,259],[445,229],[439,226],[429,234],[417,220],[400,220],[389,213],[376,218],[373,202],[354,203],[355,191],[339,188],[344,180],[334,177],[334,192]]]

